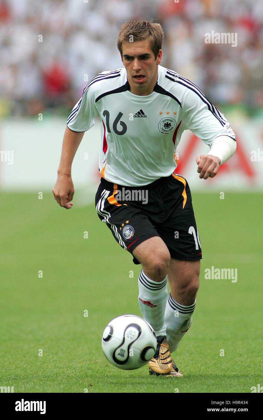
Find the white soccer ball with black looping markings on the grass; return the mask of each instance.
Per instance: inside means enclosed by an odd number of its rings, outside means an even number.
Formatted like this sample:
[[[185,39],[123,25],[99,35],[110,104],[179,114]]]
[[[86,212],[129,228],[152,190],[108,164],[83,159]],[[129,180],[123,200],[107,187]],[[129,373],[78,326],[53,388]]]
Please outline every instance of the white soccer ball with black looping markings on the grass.
[[[154,357],[157,340],[146,320],[136,315],[122,315],[106,326],[101,345],[113,366],[132,370],[146,365]]]

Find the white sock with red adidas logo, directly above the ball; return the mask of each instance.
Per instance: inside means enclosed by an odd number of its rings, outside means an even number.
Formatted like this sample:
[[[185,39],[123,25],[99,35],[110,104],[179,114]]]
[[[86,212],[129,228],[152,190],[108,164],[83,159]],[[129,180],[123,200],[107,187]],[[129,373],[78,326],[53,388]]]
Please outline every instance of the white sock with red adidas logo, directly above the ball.
[[[167,276],[162,281],[154,281],[147,277],[142,269],[138,278],[138,286],[138,302],[143,318],[151,324],[156,336],[165,336]]]

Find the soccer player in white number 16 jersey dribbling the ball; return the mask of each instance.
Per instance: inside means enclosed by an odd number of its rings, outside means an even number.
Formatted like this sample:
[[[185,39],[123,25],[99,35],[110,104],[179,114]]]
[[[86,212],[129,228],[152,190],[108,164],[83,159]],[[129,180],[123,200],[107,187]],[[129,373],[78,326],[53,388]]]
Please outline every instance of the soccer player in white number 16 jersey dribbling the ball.
[[[199,178],[207,179],[234,154],[236,140],[197,86],[160,65],[163,37],[158,23],[122,24],[117,46],[124,67],[94,77],[72,109],[53,194],[61,207],[72,207],[72,160],[98,116],[98,217],[142,264],[138,303],[157,336],[149,373],[180,377],[170,353],[192,322],[202,250],[189,185],[175,171],[176,147],[186,129],[210,147],[196,158]]]

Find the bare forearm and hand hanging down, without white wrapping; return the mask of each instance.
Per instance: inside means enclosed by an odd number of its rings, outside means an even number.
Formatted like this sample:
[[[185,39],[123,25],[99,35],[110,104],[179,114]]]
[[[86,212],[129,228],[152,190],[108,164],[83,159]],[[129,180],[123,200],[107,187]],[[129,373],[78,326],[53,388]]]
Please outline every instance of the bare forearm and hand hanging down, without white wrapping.
[[[58,167],[58,178],[52,192],[58,204],[66,209],[70,209],[73,205],[73,203],[70,202],[74,194],[71,166],[84,132],[85,131],[72,131],[66,127],[63,138],[61,159]]]

